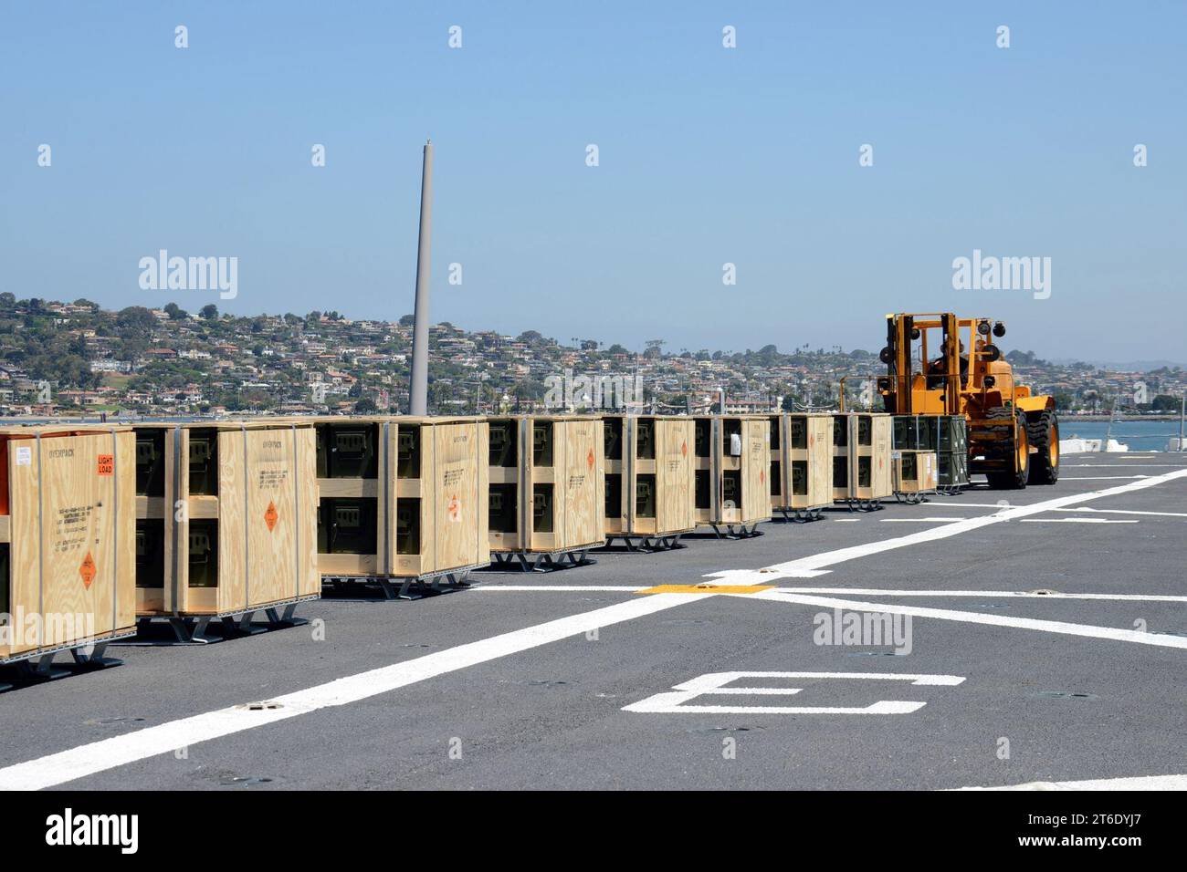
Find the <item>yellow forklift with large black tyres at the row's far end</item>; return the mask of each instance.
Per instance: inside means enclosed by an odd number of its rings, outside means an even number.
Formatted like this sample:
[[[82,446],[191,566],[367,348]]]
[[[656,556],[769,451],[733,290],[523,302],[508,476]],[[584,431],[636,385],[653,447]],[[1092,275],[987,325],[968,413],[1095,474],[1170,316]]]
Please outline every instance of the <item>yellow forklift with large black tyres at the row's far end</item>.
[[[887,412],[964,415],[969,472],[995,489],[1054,484],[1059,479],[1055,400],[1018,384],[994,338],[1005,325],[989,318],[888,314],[878,377]]]

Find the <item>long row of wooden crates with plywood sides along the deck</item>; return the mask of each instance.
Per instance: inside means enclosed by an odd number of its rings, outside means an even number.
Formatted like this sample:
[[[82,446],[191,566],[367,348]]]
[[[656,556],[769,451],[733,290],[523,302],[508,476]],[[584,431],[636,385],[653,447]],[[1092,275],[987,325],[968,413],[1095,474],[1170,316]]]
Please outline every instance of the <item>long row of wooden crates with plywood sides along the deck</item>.
[[[461,573],[491,554],[876,501],[891,492],[890,427],[781,414],[2,428],[0,661],[128,636],[138,617],[313,599],[326,577]],[[20,616],[44,626],[13,632]]]

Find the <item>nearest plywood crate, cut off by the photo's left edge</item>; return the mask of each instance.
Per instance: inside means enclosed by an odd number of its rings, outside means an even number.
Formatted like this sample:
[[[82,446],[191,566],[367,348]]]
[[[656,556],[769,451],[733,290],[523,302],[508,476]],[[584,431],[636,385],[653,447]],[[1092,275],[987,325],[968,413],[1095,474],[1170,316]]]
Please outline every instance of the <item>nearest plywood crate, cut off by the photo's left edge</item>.
[[[0,662],[101,651],[134,603],[131,428],[0,427]]]

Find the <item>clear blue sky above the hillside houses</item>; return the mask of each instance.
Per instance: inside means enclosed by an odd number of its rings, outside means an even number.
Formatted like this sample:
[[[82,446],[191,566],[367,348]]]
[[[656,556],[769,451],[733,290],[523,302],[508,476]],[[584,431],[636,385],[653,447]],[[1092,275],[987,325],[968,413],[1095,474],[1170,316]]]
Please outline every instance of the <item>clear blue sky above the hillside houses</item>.
[[[2,0],[0,289],[398,317],[431,136],[433,320],[876,349],[944,310],[1187,363],[1185,30],[1182,2]],[[237,299],[142,291],[161,248],[239,257]],[[954,291],[973,249],[1049,256],[1050,298]]]

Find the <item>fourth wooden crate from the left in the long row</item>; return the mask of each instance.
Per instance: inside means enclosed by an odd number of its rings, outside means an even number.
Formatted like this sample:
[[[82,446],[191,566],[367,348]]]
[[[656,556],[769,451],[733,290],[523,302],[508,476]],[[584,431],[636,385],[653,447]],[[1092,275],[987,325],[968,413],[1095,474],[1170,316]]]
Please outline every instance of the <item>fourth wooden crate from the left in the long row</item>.
[[[605,543],[597,415],[490,419],[490,549],[564,554]]]

